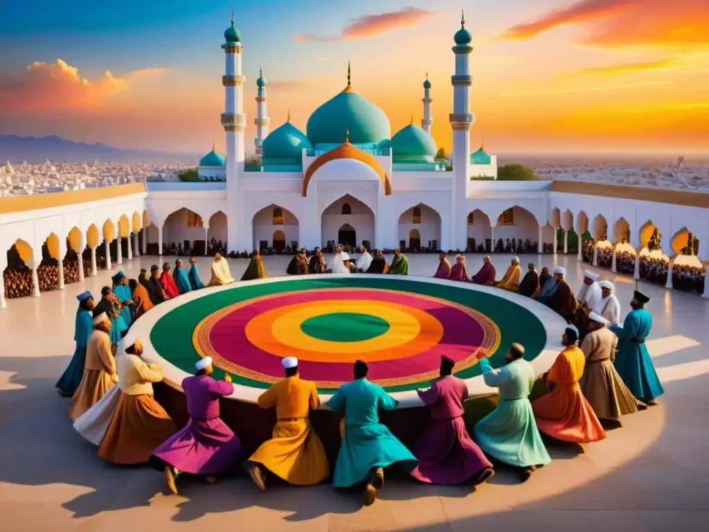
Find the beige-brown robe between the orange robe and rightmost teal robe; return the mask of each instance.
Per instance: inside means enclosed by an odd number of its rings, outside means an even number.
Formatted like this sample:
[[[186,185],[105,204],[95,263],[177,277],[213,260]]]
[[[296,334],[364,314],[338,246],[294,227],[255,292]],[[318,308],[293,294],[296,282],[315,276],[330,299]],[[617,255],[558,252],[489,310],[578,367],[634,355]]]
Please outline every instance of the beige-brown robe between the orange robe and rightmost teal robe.
[[[605,327],[586,334],[581,343],[586,368],[579,384],[598,419],[618,420],[637,412],[637,399],[613,366],[614,344],[615,335]]]

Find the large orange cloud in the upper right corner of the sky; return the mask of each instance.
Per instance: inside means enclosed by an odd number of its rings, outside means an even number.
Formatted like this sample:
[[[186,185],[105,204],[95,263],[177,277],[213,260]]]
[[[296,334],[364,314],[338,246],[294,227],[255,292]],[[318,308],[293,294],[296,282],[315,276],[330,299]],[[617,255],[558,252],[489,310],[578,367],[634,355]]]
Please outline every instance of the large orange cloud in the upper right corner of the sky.
[[[501,38],[530,39],[569,24],[587,29],[580,43],[605,48],[709,45],[709,2],[582,0],[512,26]]]

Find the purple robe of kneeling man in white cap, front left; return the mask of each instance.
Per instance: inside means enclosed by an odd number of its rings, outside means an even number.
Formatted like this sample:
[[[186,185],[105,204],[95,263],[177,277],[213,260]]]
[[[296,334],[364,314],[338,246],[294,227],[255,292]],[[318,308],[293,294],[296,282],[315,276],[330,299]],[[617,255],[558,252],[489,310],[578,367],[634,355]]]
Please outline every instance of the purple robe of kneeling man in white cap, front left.
[[[169,464],[193,475],[218,475],[233,469],[241,459],[241,442],[219,417],[219,398],[233,394],[233,384],[195,375],[182,380],[182,389],[189,421],[153,451],[152,465],[162,470]]]

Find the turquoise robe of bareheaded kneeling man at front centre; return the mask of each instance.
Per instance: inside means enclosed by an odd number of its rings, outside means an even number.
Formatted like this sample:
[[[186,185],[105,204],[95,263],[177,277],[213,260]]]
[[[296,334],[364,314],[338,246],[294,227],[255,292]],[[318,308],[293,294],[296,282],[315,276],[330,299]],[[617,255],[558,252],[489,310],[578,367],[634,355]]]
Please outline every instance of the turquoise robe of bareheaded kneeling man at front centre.
[[[345,412],[345,434],[337,455],[333,486],[348,487],[369,480],[374,467],[400,462],[413,471],[418,460],[389,428],[379,423],[379,409],[393,410],[396,399],[379,384],[357,379],[342,384],[328,401],[336,412]]]

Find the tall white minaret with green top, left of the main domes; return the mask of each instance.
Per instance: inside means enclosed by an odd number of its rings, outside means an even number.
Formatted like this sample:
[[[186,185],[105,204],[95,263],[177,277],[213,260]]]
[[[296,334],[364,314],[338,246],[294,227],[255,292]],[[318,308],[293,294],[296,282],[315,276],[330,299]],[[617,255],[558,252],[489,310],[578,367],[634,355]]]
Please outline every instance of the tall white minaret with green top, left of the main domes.
[[[224,32],[224,44],[221,46],[226,55],[226,72],[222,76],[225,92],[225,109],[221,116],[226,132],[226,193],[229,212],[227,216],[227,243],[230,251],[242,250],[244,242],[238,229],[240,208],[239,172],[244,165],[244,80],[241,70],[241,33],[234,27],[234,11],[231,11],[231,26]],[[250,239],[249,239],[250,240]],[[250,249],[252,246],[249,245]]]

